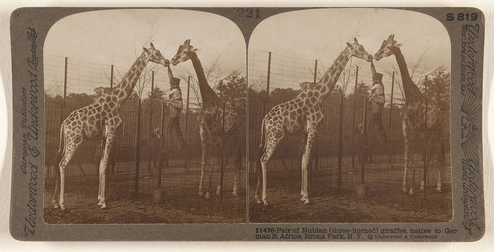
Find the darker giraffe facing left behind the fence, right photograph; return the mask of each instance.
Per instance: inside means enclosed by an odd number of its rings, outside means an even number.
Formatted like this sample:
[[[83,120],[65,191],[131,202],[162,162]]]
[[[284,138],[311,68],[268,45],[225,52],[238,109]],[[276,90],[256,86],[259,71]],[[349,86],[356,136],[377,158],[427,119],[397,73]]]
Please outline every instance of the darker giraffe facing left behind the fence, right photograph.
[[[427,155],[426,163],[431,160],[431,156],[434,152],[438,152],[440,156],[440,162],[443,163],[444,159],[444,144],[443,137],[445,136],[445,130],[449,129],[446,119],[441,113],[441,109],[437,104],[427,101],[427,125],[425,123],[425,97],[422,95],[417,85],[415,85],[408,72],[407,63],[401,52],[399,44],[394,40],[394,34],[388,36],[388,39],[383,41],[379,50],[374,54],[376,61],[395,55],[396,62],[400,69],[402,77],[403,90],[405,92],[405,105],[400,112],[402,118],[402,129],[405,137],[405,170],[403,174],[402,191],[407,192],[407,170],[409,162],[413,162],[412,173],[412,186],[410,187],[409,194],[413,195],[413,184],[415,181],[415,168],[417,163],[417,154],[420,148],[420,139],[426,137],[431,139],[426,147]],[[427,131],[425,131],[427,129]],[[427,135],[424,136],[424,131]],[[425,164],[424,164],[425,165]],[[438,181],[436,191],[441,192],[441,167],[438,170]],[[424,190],[424,180],[420,185],[420,190]]]

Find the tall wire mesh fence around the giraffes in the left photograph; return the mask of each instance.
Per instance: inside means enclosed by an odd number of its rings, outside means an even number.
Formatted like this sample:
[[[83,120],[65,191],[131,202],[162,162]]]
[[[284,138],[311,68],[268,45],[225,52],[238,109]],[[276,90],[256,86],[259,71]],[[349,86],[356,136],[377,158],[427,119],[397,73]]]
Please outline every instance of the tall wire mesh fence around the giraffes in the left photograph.
[[[98,87],[109,90],[114,83],[116,86],[128,70],[55,55],[47,55],[45,65],[47,97],[51,97],[45,102],[45,179],[50,184],[57,168],[55,155],[60,145],[62,121],[72,111],[88,105],[97,96],[95,91]],[[247,190],[247,143],[240,133],[242,131],[223,134],[221,132],[224,131],[220,130],[220,134],[208,142],[206,157],[210,157],[210,162],[203,170],[199,100],[190,97],[188,90],[183,91],[186,94],[184,113],[178,120],[184,144],[179,146],[175,131],[168,130],[168,106],[153,94],[158,90],[155,84],[167,84],[168,76],[154,70],[150,68],[149,73],[144,73],[148,76],[141,75],[146,81],[139,80],[136,85],[136,88],[141,88],[138,90],[140,93],[148,93],[148,98],[142,102],[141,99],[134,99],[137,100],[136,104],[130,105],[127,101],[128,106],[120,110],[124,124],[116,133],[110,165],[106,169],[110,197],[197,199],[199,184],[204,180],[204,191],[210,191],[213,199],[227,203],[225,206],[242,205]],[[165,96],[165,93],[161,95]],[[56,99],[57,96],[63,99]],[[83,102],[86,103],[80,105]],[[239,120],[242,121],[240,127],[245,125],[245,115],[239,116]],[[232,142],[236,144],[232,145]],[[237,149],[238,152],[234,151]],[[82,143],[66,168],[66,177],[72,183],[70,186],[91,184],[97,187],[103,150],[102,141],[85,140]],[[239,154],[242,154],[240,158]],[[233,195],[234,187],[236,195]]]

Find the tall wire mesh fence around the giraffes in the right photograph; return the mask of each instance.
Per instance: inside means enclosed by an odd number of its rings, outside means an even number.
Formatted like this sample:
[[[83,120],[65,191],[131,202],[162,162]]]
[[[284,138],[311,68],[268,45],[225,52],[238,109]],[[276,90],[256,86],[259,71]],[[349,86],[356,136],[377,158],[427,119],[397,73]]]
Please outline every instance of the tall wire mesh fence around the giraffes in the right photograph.
[[[249,49],[248,53],[249,90],[269,93],[265,97],[248,96],[248,160],[250,183],[254,188],[262,119],[275,105],[295,96],[280,100],[280,97],[274,97],[276,88],[303,89],[304,83],[315,84],[324,77],[322,75],[330,65],[267,51]],[[337,83],[343,90],[330,95],[329,101],[321,106],[324,119],[318,127],[309,160],[309,190],[316,194],[355,194],[356,189],[365,184],[368,190],[399,192],[405,183],[407,189],[414,187],[418,192],[424,177],[426,188],[435,189],[438,180],[443,187],[451,186],[449,132],[415,132],[413,137],[409,136],[413,139],[409,143],[413,155],[408,159],[410,163],[405,171],[403,95],[394,89],[394,80],[385,84],[388,92],[385,94],[386,106],[382,109],[382,125],[386,141],[382,141],[377,127],[371,126],[370,100],[364,93],[359,93],[362,88],[358,84],[371,85],[371,73],[363,69],[359,61],[348,64]],[[351,95],[342,95],[344,90],[350,93],[353,85]],[[449,111],[443,114],[449,117]],[[446,127],[449,128],[449,123]],[[285,136],[268,163],[267,171],[271,173],[268,187],[299,192],[304,149],[304,135]],[[428,158],[430,161],[426,162]]]

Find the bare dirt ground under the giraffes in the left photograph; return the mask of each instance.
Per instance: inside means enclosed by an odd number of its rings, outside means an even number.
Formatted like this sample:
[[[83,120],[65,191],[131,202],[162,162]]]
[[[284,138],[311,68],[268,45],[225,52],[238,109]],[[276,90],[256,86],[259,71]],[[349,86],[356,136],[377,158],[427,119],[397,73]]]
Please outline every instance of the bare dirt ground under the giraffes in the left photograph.
[[[210,200],[199,198],[196,179],[186,179],[186,184],[174,187],[172,190],[171,187],[182,183],[182,179],[168,181],[165,176],[170,172],[171,170],[164,171],[161,201],[156,200],[159,192],[156,187],[156,174],[143,172],[139,179],[140,193],[136,200],[133,200],[133,174],[129,174],[129,178],[120,175],[124,179],[107,184],[105,210],[101,210],[96,205],[98,203],[97,176],[68,178],[65,193],[67,210],[64,213],[54,209],[51,204],[54,180],[48,180],[44,191],[43,219],[48,224],[243,223],[247,221],[245,182],[244,187],[240,187],[243,189],[239,188],[239,197],[233,197],[230,183],[225,183],[225,193],[221,203],[220,197],[214,193]],[[186,193],[185,189],[191,191]]]

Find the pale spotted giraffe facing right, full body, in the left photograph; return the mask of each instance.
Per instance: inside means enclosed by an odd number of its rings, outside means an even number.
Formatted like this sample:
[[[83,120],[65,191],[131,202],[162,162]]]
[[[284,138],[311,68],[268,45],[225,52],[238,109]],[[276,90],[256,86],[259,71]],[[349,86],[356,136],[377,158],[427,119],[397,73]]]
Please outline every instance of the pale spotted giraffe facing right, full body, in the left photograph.
[[[98,206],[106,208],[105,203],[105,170],[112,144],[115,141],[116,130],[124,124],[120,110],[132,93],[142,70],[149,61],[167,67],[170,62],[161,52],[155,49],[153,43],[150,48],[143,47],[142,54],[126,73],[121,83],[110,92],[101,95],[93,103],[76,109],[60,127],[60,147],[57,152],[56,163],[59,170],[55,176],[55,192],[52,203],[55,208],[64,206],[65,168],[69,164],[77,148],[84,140],[102,140],[104,153],[99,164]],[[58,180],[60,176],[60,180]],[[58,183],[60,183],[60,202],[56,202]]]

